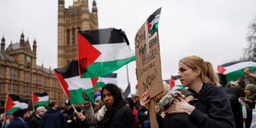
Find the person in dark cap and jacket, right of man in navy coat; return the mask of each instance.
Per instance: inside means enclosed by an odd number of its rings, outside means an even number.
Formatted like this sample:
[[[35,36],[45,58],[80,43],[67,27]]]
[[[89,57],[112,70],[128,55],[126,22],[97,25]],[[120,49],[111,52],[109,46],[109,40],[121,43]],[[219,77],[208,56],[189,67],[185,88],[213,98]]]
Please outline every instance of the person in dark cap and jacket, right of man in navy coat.
[[[80,124],[79,118],[77,118],[74,108],[70,104],[69,100],[65,101],[65,108],[66,110],[63,111],[63,114],[68,122],[69,128],[78,128]]]

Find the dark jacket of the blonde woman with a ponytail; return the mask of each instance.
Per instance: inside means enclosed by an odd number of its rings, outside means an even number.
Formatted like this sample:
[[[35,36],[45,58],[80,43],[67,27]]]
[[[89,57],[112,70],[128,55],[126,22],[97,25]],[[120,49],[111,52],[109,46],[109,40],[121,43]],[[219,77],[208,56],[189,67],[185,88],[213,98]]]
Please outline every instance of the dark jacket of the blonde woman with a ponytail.
[[[212,84],[203,85],[199,92],[208,102],[209,108],[198,99],[192,99],[188,103],[195,106],[191,115],[186,113],[172,114],[164,116],[157,115],[158,124],[166,127],[207,127],[207,128],[234,128],[234,116],[230,108],[228,95],[220,86]]]

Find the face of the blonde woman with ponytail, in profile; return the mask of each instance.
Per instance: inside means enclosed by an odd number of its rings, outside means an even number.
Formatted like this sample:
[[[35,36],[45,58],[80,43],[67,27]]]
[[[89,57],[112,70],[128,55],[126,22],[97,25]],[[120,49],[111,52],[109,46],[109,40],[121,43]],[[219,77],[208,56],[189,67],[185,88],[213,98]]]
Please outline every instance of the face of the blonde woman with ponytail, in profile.
[[[180,83],[184,87],[193,84],[197,80],[195,71],[182,62],[179,63],[178,77],[180,78]]]

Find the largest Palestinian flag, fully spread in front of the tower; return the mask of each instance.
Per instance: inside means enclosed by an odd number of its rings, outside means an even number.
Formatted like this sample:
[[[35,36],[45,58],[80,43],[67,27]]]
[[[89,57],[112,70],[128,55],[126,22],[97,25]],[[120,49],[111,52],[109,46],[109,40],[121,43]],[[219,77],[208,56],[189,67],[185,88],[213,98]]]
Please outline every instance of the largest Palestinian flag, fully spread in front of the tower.
[[[106,76],[135,60],[122,29],[77,31],[81,78]]]

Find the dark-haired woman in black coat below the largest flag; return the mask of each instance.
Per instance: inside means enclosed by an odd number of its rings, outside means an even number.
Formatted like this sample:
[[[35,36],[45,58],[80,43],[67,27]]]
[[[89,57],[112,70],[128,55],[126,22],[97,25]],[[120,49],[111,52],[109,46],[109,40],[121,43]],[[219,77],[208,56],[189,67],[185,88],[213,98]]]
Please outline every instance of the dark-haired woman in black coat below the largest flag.
[[[100,122],[100,128],[136,128],[136,122],[131,109],[122,99],[122,93],[115,84],[106,84],[101,90],[101,99],[106,108],[104,119]]]

